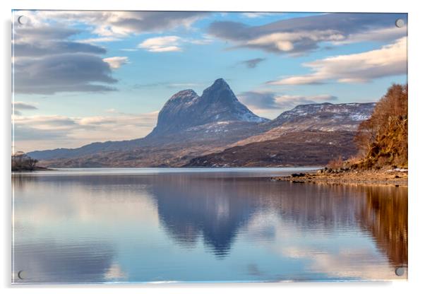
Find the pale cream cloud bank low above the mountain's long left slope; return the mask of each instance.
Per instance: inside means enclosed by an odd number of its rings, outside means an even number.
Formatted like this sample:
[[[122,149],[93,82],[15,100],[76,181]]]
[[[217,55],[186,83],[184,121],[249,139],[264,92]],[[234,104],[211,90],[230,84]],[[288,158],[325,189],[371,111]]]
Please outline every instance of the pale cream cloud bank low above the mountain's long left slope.
[[[157,111],[142,114],[109,113],[90,117],[13,115],[14,145],[17,151],[28,152],[57,146],[76,148],[95,141],[141,138],[155,127],[158,115]]]

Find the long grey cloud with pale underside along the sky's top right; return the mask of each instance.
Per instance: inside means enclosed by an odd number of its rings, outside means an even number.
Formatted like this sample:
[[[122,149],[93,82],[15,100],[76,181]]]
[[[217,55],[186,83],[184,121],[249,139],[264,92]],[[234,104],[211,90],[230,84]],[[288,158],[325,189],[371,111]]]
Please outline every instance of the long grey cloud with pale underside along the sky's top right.
[[[258,13],[243,16],[257,17]],[[321,45],[347,42],[394,42],[407,35],[407,26],[395,28],[395,19],[407,23],[406,13],[323,13],[277,20],[262,25],[235,21],[214,21],[208,33],[226,42],[233,49],[247,47],[277,54],[306,54]]]

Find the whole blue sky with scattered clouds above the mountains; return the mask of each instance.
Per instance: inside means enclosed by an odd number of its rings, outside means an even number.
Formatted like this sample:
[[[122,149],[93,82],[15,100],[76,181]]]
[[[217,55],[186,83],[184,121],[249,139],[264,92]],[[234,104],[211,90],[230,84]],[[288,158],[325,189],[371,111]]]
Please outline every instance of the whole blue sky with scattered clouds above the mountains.
[[[405,13],[13,11],[12,19],[14,152],[141,138],[174,93],[200,95],[217,78],[269,119],[300,104],[374,102],[407,83]]]

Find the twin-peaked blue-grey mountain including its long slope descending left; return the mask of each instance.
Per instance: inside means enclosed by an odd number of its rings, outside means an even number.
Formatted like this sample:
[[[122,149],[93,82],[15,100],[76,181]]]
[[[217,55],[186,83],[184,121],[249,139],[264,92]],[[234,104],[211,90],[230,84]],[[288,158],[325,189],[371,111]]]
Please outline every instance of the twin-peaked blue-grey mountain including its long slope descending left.
[[[155,149],[155,153],[161,150],[169,153],[170,149],[175,150],[176,146],[180,149],[186,148],[188,153],[191,153],[193,145],[199,155],[204,149],[226,146],[252,134],[259,134],[264,129],[258,125],[268,121],[269,119],[253,114],[239,102],[225,80],[219,78],[206,88],[201,96],[193,90],[181,90],[172,95],[158,114],[157,126],[145,138],[95,142],[80,148],[32,151],[28,155],[38,160],[48,160],[47,163],[51,166],[64,167],[91,164],[105,166],[108,164],[93,163],[88,158],[99,158],[107,153],[112,155],[134,151],[144,154],[150,149]],[[143,151],[140,148],[143,148]],[[73,159],[68,160],[70,158]],[[83,158],[87,158],[90,165],[87,165]],[[150,165],[152,162],[147,160],[140,164]]]

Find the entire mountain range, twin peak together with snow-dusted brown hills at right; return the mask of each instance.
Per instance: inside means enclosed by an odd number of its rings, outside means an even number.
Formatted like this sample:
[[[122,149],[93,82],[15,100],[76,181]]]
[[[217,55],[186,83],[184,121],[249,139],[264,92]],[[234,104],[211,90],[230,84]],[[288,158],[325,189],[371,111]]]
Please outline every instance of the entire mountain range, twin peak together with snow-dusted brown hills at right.
[[[190,89],[172,95],[160,110],[155,129],[144,138],[33,151],[28,155],[49,167],[222,166],[226,163],[217,160],[217,154],[224,152],[222,158],[229,158],[227,153],[234,150],[228,149],[240,147],[230,156],[232,166],[296,165],[297,160],[299,164],[321,164],[334,153],[346,157],[354,152],[354,147],[348,146],[354,146],[354,131],[371,115],[374,106],[373,103],[298,105],[276,119],[264,119],[239,102],[225,80],[219,78],[200,96]],[[292,148],[303,151],[307,146],[316,152],[312,142],[322,144],[323,148],[314,155],[293,153],[292,156],[290,152],[282,155],[285,142],[294,143],[287,146],[288,152]],[[332,144],[330,152],[326,146]],[[270,156],[276,154],[275,159],[270,161],[268,155],[261,155],[262,148]],[[244,156],[235,158],[239,150]],[[250,152],[255,154],[255,160],[250,159]],[[204,163],[203,157],[210,155],[215,159],[209,158]]]

